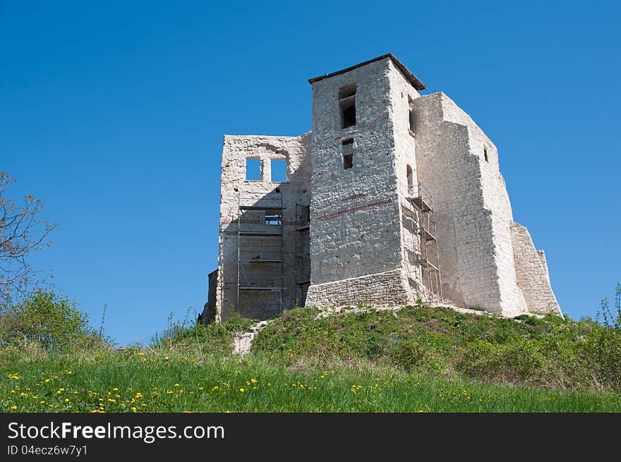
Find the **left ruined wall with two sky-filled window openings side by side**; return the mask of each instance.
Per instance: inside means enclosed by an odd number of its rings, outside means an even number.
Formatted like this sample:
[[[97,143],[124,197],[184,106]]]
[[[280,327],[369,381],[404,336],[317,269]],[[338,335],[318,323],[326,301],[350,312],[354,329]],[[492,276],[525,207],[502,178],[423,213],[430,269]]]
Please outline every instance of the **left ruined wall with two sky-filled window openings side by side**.
[[[265,319],[295,305],[296,203],[308,204],[310,200],[308,140],[308,134],[224,137],[216,302],[219,319],[226,319],[233,310],[245,317]],[[246,181],[248,158],[260,159],[260,181]],[[287,162],[286,182],[271,181],[271,159]],[[239,212],[240,204],[247,208]],[[275,214],[281,205],[281,224],[265,224],[266,212]],[[244,289],[239,291],[238,306],[240,245],[240,285]],[[263,290],[270,287],[282,288],[282,292]]]

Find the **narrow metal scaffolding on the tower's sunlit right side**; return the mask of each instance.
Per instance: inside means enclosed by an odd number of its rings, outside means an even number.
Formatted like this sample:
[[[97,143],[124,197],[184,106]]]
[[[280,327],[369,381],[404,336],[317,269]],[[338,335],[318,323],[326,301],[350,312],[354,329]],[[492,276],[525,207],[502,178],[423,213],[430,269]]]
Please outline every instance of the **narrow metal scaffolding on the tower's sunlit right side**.
[[[412,232],[417,234],[421,245],[416,257],[416,264],[421,267],[423,280],[427,280],[427,289],[430,295],[434,294],[443,300],[442,275],[440,274],[440,254],[438,253],[437,229],[433,197],[422,183],[418,183],[417,195],[406,197],[411,205],[410,217]],[[413,249],[416,252],[416,248]]]

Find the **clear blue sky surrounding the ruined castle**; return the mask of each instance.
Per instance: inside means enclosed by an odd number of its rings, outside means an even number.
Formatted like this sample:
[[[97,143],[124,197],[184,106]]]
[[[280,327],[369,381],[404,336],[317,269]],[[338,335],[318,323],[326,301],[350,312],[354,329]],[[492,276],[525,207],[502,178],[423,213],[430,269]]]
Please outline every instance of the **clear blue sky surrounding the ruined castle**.
[[[304,133],[308,78],[392,52],[495,142],[562,309],[594,315],[621,281],[620,24],[614,1],[0,0],[0,169],[59,221],[35,264],[148,341],[205,303],[222,135]]]

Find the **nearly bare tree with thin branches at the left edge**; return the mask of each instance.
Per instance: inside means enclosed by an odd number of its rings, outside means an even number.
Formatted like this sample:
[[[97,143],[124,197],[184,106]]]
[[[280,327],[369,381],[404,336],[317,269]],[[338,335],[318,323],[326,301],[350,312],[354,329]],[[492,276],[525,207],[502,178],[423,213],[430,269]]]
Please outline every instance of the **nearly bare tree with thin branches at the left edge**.
[[[23,296],[29,286],[40,284],[46,278],[28,261],[30,253],[40,250],[56,227],[41,219],[43,205],[32,195],[16,204],[7,196],[15,181],[3,171],[0,173],[0,296]]]

